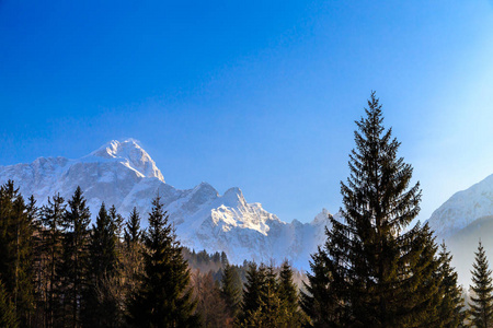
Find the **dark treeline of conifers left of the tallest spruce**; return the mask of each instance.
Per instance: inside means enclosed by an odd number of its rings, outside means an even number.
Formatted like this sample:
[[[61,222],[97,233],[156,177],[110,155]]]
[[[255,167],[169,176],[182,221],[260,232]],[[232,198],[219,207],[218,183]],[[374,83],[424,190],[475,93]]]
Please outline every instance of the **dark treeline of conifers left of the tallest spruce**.
[[[149,226],[80,188],[36,207],[0,187],[0,327],[300,327],[295,272],[180,245],[160,198]]]

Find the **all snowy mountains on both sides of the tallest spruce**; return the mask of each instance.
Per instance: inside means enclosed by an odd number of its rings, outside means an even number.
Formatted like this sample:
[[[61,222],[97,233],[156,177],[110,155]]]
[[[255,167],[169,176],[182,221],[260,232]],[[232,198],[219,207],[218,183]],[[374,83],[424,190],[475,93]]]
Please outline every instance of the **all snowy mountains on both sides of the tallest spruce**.
[[[55,192],[68,199],[81,186],[93,218],[103,201],[115,204],[124,216],[137,207],[144,226],[159,192],[183,245],[209,253],[223,250],[234,263],[244,259],[279,263],[287,258],[294,267],[307,270],[310,254],[325,239],[325,209],[310,223],[287,223],[261,203],[249,203],[237,187],[223,195],[207,183],[176,189],[131,139],[111,141],[78,160],[39,157],[31,164],[0,166],[0,183],[8,179],[13,179],[25,197],[33,195],[38,204]],[[446,241],[459,280],[468,285],[480,237],[493,260],[493,175],[455,194],[428,222],[437,242]]]

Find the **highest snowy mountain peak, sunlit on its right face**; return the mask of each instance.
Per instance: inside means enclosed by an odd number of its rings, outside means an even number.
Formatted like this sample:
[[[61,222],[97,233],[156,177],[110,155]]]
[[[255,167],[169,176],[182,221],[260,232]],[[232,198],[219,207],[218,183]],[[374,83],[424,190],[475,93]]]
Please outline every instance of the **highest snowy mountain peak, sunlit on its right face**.
[[[124,141],[112,140],[93,151],[89,156],[101,157],[106,160],[116,160],[140,173],[146,177],[156,177],[164,183],[161,171],[156,166],[156,162],[140,147],[135,139],[126,139]]]

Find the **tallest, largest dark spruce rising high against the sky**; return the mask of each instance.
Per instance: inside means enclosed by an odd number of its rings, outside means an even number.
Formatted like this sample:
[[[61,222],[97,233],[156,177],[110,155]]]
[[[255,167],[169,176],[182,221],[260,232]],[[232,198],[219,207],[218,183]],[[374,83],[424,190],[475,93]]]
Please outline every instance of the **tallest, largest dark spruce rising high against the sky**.
[[[398,157],[400,142],[386,131],[375,93],[365,112],[356,121],[349,177],[341,183],[344,223],[329,218],[303,308],[314,326],[425,325],[436,306],[429,292],[438,282],[436,247],[426,225],[404,231],[420,212],[420,185],[410,187],[413,169]]]

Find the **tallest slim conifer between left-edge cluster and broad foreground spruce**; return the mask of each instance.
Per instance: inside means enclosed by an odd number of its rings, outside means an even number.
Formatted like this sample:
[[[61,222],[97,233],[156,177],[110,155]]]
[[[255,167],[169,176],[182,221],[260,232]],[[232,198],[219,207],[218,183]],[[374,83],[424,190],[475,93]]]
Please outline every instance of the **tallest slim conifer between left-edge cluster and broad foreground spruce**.
[[[62,325],[80,327],[83,294],[88,284],[89,224],[91,213],[80,187],[68,201],[64,216],[62,256],[58,270],[60,292],[64,293],[64,308],[59,316]]]

